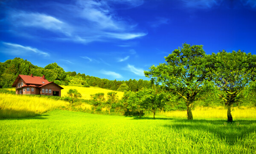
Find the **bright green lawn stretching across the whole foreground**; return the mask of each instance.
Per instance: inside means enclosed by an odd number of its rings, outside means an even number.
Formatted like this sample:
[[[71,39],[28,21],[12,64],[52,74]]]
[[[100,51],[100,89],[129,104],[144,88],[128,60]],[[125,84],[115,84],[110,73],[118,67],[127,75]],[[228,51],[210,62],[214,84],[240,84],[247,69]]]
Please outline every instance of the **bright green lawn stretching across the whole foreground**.
[[[255,154],[256,119],[97,115],[52,110],[0,120],[0,154]]]

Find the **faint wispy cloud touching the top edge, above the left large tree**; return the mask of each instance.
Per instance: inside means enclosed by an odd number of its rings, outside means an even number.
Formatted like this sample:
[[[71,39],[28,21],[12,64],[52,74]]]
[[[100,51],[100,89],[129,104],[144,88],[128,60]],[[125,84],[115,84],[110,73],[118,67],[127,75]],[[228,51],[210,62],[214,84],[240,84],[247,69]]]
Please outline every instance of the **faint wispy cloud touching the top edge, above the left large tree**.
[[[181,0],[186,7],[197,9],[209,9],[218,6],[223,0]]]

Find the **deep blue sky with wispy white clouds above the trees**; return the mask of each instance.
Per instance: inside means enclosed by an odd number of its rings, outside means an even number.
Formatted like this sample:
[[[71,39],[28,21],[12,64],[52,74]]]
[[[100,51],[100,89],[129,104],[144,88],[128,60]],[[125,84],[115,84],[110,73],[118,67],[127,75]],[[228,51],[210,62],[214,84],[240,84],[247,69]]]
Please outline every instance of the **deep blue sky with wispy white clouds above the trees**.
[[[183,43],[256,54],[256,0],[2,0],[0,61],[148,79]]]

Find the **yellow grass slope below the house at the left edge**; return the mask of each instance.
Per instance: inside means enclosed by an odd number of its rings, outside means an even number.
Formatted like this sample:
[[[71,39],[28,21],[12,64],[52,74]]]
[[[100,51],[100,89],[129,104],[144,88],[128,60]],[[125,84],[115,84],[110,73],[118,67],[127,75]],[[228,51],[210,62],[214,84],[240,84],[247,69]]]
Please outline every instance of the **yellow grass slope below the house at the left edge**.
[[[0,93],[0,117],[18,118],[35,116],[54,108],[65,108],[68,102],[52,100],[43,97],[31,97],[26,95],[12,95]]]

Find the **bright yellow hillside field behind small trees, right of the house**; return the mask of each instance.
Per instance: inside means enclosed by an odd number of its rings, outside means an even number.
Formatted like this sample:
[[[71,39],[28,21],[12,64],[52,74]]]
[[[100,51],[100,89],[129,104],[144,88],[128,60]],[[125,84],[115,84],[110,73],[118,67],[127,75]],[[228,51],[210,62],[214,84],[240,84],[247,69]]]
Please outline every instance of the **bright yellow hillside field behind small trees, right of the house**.
[[[90,95],[95,93],[105,93],[104,96],[105,96],[105,99],[107,99],[108,92],[113,91],[113,90],[102,89],[98,87],[79,87],[79,86],[73,86],[73,85],[68,85],[68,86],[61,85],[61,87],[64,88],[63,90],[61,90],[61,96],[67,96],[67,92],[69,89],[76,89],[79,93],[81,93],[82,99],[90,99]],[[115,92],[117,92],[118,98],[121,99],[124,93],[120,91],[115,91]]]

